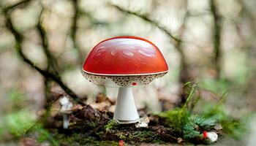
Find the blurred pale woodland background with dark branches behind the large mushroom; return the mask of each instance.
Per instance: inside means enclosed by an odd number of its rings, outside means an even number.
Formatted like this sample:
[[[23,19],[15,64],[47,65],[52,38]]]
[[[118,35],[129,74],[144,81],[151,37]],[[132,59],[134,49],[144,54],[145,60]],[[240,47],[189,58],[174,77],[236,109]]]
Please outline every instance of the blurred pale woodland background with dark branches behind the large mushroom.
[[[169,73],[134,89],[137,107],[170,110],[184,103],[185,82],[197,82],[201,104],[227,92],[225,110],[241,118],[256,111],[255,0],[1,0],[0,143],[31,126],[64,91],[86,104],[117,88],[83,78],[89,51],[103,39],[143,37],[159,47]],[[195,107],[200,109],[200,104]],[[250,118],[244,145],[255,145]],[[1,145],[1,144],[0,144]]]

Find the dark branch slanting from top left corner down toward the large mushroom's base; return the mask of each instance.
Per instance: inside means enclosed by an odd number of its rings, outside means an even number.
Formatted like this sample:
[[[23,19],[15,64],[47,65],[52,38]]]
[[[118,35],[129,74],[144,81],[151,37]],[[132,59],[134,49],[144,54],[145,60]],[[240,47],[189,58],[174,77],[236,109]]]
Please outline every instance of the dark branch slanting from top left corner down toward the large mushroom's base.
[[[29,1],[26,1],[26,2],[29,2]],[[20,4],[28,4],[28,3],[23,2]],[[15,7],[18,7],[18,6],[19,6],[18,4],[15,4]],[[11,8],[14,9],[15,7],[11,7]],[[44,77],[48,77],[48,78],[50,78],[50,80],[57,82],[60,85],[60,87],[67,94],[69,94],[69,96],[71,96],[73,99],[75,99],[75,101],[78,101],[78,103],[83,104],[83,102],[78,99],[78,96],[71,89],[69,89],[67,87],[67,85],[64,84],[64,82],[62,82],[61,77],[56,76],[56,74],[52,74],[52,73],[48,72],[47,70],[41,69],[39,66],[34,64],[31,60],[29,60],[29,58],[27,58],[26,55],[23,53],[23,48],[22,48],[23,35],[20,34],[15,29],[15,27],[12,25],[12,19],[10,17],[10,11],[12,9],[4,9],[4,17],[6,18],[6,21],[7,21],[6,22],[7,28],[11,31],[11,33],[15,37],[15,41],[16,41],[15,48],[16,48],[18,55],[20,55],[20,57],[23,58],[23,61],[25,61],[27,64],[29,64],[29,66],[31,66],[32,68],[36,69],[37,72],[42,74]]]

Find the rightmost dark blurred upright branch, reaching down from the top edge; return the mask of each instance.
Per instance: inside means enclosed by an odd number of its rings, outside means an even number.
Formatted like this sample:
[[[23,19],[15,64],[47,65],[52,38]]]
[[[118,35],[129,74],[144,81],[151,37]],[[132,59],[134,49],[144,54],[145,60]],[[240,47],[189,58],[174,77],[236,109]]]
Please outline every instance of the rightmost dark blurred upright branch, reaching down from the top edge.
[[[219,78],[220,72],[220,61],[219,58],[221,56],[220,50],[220,40],[221,40],[221,16],[219,15],[217,9],[216,0],[210,0],[211,3],[211,14],[214,18],[214,68],[217,71],[217,78]]]

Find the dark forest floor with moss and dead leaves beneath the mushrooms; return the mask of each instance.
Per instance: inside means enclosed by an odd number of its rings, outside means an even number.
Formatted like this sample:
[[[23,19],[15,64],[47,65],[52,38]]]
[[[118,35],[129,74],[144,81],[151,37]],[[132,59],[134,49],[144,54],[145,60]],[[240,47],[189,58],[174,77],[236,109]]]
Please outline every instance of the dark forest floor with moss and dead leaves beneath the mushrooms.
[[[147,113],[138,123],[120,124],[113,120],[109,107],[115,104],[100,94],[92,105],[74,104],[67,112],[69,127],[63,128],[64,113],[49,110],[31,126],[20,143],[50,145],[245,145],[241,136],[244,121],[227,115],[222,98],[202,113],[192,112],[195,106],[195,85],[190,85],[187,101],[172,110]],[[58,104],[59,99],[56,101]],[[97,105],[97,106],[95,106]],[[61,109],[61,107],[60,107]],[[146,114],[147,113],[147,114]],[[66,112],[65,112],[66,114]],[[217,139],[210,137],[217,134]]]

